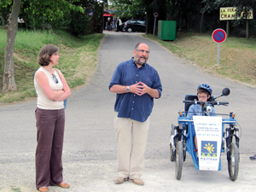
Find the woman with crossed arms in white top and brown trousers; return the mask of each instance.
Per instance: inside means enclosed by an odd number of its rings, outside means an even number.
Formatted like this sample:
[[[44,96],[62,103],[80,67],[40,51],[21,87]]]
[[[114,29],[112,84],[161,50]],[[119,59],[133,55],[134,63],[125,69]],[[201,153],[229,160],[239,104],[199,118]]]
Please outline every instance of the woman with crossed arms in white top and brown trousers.
[[[49,185],[69,188],[62,177],[62,148],[65,127],[63,101],[71,96],[66,79],[53,68],[58,64],[58,49],[46,45],[40,50],[34,86],[38,95],[36,119],[38,146],[36,152],[36,185],[39,191],[48,191]]]

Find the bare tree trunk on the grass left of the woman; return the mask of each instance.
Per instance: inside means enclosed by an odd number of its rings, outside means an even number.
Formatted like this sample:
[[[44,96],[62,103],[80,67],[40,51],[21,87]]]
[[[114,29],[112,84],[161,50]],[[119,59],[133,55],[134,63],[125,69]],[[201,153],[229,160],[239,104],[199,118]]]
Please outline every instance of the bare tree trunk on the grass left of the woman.
[[[4,52],[4,72],[3,72],[2,93],[7,93],[11,90],[16,90],[14,49],[15,49],[15,38],[18,30],[18,16],[20,13],[20,4],[21,4],[21,0],[14,0],[13,9],[9,18],[7,40],[6,40],[5,52]]]

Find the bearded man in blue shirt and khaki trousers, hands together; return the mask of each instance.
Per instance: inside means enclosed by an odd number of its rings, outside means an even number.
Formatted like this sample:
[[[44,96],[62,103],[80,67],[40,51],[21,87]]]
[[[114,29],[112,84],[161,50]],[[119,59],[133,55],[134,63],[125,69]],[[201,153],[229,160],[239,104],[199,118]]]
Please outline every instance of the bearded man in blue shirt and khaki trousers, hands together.
[[[134,57],[119,64],[109,84],[109,90],[117,93],[114,128],[118,143],[118,177],[115,183],[130,179],[138,185],[144,184],[140,177],[143,173],[149,116],[154,98],[160,98],[162,92],[157,71],[147,64],[148,54],[147,44],[137,44]]]

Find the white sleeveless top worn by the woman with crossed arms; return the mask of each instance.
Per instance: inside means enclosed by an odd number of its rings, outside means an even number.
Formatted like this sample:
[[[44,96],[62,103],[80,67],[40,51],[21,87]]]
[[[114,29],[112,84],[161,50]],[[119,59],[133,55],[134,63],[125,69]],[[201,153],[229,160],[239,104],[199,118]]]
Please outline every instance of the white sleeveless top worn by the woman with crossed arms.
[[[51,88],[51,90],[63,90],[63,84],[61,83],[61,79],[58,75],[58,73],[56,73],[55,71],[55,76],[58,79],[58,84],[55,83],[52,73],[49,73],[47,70],[44,69],[44,67],[40,67],[38,68],[38,71],[36,73],[38,73],[39,71],[44,72],[44,74],[47,76],[48,81],[49,81],[49,87]],[[42,108],[42,109],[50,109],[50,110],[54,110],[54,109],[61,109],[64,108],[64,103],[63,102],[55,102],[51,99],[49,99],[45,94],[44,91],[42,90],[42,88],[39,86],[37,80],[36,80],[36,73],[34,76],[34,86],[38,95],[38,102],[37,102],[37,107],[38,108]]]

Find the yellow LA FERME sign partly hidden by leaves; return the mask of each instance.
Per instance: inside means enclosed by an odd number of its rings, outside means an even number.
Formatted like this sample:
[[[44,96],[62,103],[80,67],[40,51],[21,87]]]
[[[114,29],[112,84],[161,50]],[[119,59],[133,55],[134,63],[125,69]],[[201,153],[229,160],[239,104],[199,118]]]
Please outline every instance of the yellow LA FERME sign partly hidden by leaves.
[[[241,13],[243,15],[243,13]],[[235,20],[236,16],[236,7],[227,7],[219,9],[219,20]],[[240,20],[240,17],[237,17],[236,20]],[[247,20],[253,20],[253,9],[250,9]]]

